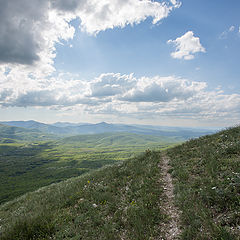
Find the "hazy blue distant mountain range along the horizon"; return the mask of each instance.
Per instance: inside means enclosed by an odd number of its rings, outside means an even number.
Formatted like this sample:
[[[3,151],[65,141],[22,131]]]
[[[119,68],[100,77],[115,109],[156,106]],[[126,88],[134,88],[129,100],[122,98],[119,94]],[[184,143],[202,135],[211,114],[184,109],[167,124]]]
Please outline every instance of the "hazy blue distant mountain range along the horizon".
[[[174,136],[182,140],[196,138],[202,135],[212,134],[215,130],[201,128],[181,128],[181,127],[162,127],[150,125],[126,125],[126,124],[109,124],[101,122],[97,124],[91,123],[68,123],[57,122],[54,124],[45,124],[36,121],[8,121],[0,122],[0,124],[21,127],[38,131],[38,133],[55,134],[63,136],[74,136],[81,134],[99,134],[99,133],[117,133],[128,132],[135,134],[145,134],[154,136]]]

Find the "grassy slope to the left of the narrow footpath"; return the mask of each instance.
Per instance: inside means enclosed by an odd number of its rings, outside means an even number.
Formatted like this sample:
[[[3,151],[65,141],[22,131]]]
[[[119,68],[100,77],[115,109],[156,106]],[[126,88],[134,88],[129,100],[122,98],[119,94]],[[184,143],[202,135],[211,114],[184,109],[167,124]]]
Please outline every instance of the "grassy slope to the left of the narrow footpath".
[[[0,239],[164,237],[159,161],[147,152],[8,202],[0,207]]]

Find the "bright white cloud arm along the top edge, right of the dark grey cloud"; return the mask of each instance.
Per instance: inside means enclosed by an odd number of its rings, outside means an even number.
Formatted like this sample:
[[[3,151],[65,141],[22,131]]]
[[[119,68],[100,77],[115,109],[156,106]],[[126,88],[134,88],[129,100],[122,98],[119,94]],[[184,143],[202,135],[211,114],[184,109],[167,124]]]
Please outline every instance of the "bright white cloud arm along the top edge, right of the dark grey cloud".
[[[152,0],[55,0],[52,6],[63,12],[71,11],[81,20],[81,28],[89,34],[97,34],[114,27],[138,24],[147,17],[153,24],[166,18],[174,9],[180,7],[178,1]]]

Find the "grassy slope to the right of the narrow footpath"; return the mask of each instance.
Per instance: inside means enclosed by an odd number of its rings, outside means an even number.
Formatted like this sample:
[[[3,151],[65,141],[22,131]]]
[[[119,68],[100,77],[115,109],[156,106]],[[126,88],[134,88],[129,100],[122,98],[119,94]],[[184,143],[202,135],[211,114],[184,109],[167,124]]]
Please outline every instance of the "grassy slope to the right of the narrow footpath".
[[[168,155],[182,239],[239,239],[240,127],[190,140]]]

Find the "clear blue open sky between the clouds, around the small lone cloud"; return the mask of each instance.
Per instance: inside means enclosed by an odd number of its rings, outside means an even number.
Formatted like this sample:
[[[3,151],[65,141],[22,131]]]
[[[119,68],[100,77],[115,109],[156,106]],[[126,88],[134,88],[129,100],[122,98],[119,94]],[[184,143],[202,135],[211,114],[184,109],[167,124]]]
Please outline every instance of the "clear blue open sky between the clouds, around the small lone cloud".
[[[229,6],[227,1],[185,0],[179,9],[157,25],[148,19],[134,27],[106,30],[96,37],[78,29],[69,43],[73,48],[57,46],[55,66],[87,78],[103,72],[134,72],[137,76],[176,74],[207,81],[212,87],[224,85],[227,88],[228,84],[234,84],[234,88],[239,90],[240,35],[237,32],[240,2],[233,3]],[[74,25],[79,26],[79,22],[75,21]],[[235,34],[229,33],[226,38],[220,39],[221,34],[231,26],[235,26]],[[173,47],[166,42],[189,30],[200,37],[207,54],[199,54],[193,61],[171,58]]]

